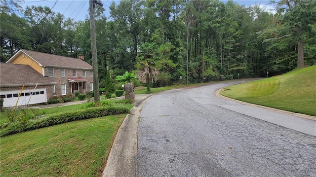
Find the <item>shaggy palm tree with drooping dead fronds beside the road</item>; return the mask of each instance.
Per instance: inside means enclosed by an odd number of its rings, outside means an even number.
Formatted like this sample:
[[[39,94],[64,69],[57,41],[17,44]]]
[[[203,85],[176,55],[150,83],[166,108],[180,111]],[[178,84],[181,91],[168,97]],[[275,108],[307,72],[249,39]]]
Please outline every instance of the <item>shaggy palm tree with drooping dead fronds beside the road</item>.
[[[139,70],[139,81],[146,83],[147,93],[150,93],[151,83],[157,81],[161,62],[159,60],[158,46],[155,42],[146,42],[139,46],[135,67]]]

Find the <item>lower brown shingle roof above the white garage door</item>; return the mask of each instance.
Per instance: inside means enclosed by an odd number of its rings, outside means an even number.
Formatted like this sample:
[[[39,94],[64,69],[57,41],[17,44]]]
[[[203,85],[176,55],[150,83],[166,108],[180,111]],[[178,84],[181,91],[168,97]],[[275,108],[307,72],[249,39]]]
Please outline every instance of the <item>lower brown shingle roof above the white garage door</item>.
[[[49,77],[43,77],[28,65],[16,65],[0,63],[0,86],[21,86],[25,85],[51,85],[54,82]],[[50,83],[50,84],[49,84]]]

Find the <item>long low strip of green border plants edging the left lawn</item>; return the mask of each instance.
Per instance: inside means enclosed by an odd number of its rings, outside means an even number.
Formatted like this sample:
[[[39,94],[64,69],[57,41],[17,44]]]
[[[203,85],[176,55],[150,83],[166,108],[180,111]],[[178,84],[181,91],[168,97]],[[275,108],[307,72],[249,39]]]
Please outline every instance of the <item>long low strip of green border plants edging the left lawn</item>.
[[[111,107],[90,107],[86,109],[67,111],[57,114],[47,115],[39,119],[33,119],[28,122],[14,122],[1,128],[0,136],[7,136],[25,131],[35,130],[52,125],[62,124],[75,120],[90,119],[95,117],[104,117],[115,114],[130,113],[129,109],[123,106]]]

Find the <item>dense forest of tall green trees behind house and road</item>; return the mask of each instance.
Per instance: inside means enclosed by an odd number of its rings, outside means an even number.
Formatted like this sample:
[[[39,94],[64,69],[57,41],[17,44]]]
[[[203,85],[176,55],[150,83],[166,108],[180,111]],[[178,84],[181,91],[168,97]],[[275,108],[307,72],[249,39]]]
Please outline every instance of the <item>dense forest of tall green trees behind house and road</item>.
[[[91,62],[90,22],[74,21],[50,7],[1,0],[0,52],[6,62],[19,49]],[[111,17],[96,5],[100,87],[137,72],[140,46],[157,46],[156,86],[246,77],[266,77],[316,64],[316,1],[277,0],[272,13],[220,0],[121,0]],[[204,79],[205,78],[205,79]]]

